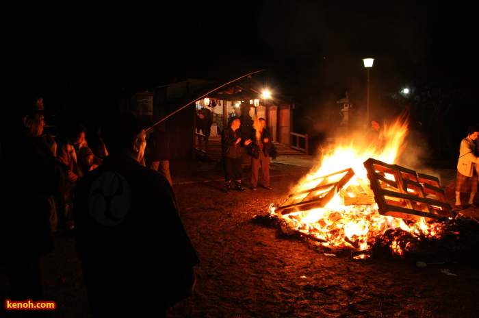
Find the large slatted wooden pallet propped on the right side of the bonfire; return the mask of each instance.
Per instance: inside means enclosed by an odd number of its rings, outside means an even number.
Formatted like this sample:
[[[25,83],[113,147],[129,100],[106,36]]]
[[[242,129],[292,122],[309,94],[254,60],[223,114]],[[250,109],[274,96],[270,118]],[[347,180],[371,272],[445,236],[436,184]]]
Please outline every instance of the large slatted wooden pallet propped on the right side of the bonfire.
[[[373,158],[364,167],[380,215],[412,221],[454,217],[439,179]]]

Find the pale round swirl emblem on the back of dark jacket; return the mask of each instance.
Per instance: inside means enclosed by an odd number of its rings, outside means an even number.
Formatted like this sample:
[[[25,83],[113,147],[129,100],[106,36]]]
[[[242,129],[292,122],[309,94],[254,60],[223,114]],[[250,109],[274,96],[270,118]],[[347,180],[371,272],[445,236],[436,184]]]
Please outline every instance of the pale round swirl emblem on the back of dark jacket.
[[[105,226],[120,224],[131,205],[131,191],[122,175],[105,172],[90,188],[90,215]]]

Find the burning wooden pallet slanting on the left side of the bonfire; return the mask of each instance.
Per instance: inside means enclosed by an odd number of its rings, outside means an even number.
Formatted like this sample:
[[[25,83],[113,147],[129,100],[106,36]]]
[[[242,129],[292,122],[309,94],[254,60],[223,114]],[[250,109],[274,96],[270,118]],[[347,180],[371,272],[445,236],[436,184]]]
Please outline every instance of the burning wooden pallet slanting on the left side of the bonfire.
[[[326,204],[343,188],[354,175],[354,171],[344,169],[323,175],[322,177],[307,180],[300,186],[300,191],[289,195],[282,206],[276,208],[276,212],[287,215],[299,210],[311,210],[324,208]],[[305,190],[301,190],[306,188]]]

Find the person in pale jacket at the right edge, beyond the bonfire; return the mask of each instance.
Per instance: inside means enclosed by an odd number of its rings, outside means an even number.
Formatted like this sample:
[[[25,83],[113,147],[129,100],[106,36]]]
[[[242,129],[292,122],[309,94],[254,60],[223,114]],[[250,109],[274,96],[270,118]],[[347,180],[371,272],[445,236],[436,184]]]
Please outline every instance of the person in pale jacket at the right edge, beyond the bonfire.
[[[456,207],[461,210],[465,208],[461,203],[461,192],[469,193],[469,206],[477,207],[474,204],[474,197],[478,192],[478,167],[479,157],[477,143],[479,138],[479,125],[472,125],[467,129],[467,137],[461,141],[459,149],[459,160],[457,163],[456,177]]]

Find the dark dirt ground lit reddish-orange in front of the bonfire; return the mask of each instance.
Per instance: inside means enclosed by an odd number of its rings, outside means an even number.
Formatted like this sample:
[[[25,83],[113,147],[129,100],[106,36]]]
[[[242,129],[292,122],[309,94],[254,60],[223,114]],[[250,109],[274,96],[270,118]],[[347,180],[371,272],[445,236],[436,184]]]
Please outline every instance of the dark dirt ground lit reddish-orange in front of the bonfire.
[[[169,317],[479,317],[474,264],[451,260],[417,267],[410,259],[331,256],[254,221],[271,203],[281,204],[307,171],[274,164],[273,190],[224,193],[216,164],[172,163],[183,223],[201,263],[194,295],[174,306]],[[453,200],[456,171],[435,173]],[[248,186],[247,170],[244,180]],[[468,208],[465,214],[477,217],[478,211]],[[73,238],[61,233],[56,238],[56,251],[44,259],[47,299],[57,303],[48,317],[91,317]],[[2,299],[7,293],[0,269]]]

